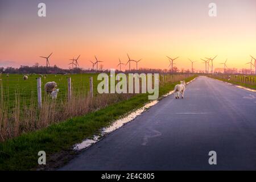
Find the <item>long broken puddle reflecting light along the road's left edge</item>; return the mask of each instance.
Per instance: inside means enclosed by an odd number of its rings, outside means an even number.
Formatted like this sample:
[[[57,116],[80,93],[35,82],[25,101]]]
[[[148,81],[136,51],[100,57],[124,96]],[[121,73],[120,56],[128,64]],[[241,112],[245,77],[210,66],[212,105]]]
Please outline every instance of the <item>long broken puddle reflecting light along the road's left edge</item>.
[[[187,82],[187,84],[194,81],[195,79],[196,78]],[[162,96],[162,98],[170,96],[172,93],[174,93],[174,90],[165,94],[164,96]],[[130,114],[126,115],[125,117],[120,118],[117,121],[115,121],[114,123],[112,123],[112,125],[110,125],[109,127],[105,127],[104,129],[102,129],[100,134],[94,135],[93,138],[85,139],[81,143],[75,144],[75,146],[73,146],[73,150],[82,150],[82,149],[85,149],[85,148],[91,146],[92,144],[98,142],[102,137],[104,137],[104,135],[112,133],[113,131],[119,129],[126,123],[133,121],[133,119],[135,119],[138,115],[141,115],[144,111],[146,111],[148,108],[156,105],[158,102],[159,102],[159,100],[151,101],[151,102],[147,103],[146,105],[144,105],[143,107],[141,107],[135,111],[132,111]]]

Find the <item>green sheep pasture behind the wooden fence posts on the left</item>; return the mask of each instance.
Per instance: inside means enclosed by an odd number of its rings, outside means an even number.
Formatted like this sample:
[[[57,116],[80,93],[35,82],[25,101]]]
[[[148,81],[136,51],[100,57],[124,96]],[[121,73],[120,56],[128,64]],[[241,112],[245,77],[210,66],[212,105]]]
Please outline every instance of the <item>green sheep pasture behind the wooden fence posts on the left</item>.
[[[28,76],[28,80],[23,80],[23,75],[10,74],[9,77],[3,74],[0,79],[0,93],[3,99],[8,102],[10,107],[14,107],[15,98],[19,97],[20,105],[29,105],[31,100],[37,101],[36,78],[39,75]],[[89,78],[93,77],[94,94],[97,94],[97,74],[76,74],[76,75],[43,75],[42,77],[42,99],[46,99],[46,93],[43,86],[49,81],[55,81],[60,89],[57,101],[67,100],[68,81],[67,77],[72,79],[72,93],[80,94],[89,92]]]

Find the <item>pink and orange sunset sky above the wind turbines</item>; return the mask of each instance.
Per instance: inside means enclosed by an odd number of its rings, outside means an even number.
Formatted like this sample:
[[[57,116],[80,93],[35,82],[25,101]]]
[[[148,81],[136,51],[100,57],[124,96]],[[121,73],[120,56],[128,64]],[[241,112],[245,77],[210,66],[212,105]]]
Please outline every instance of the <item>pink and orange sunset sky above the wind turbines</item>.
[[[41,2],[46,17],[38,16]],[[94,55],[104,69],[117,68],[126,53],[142,59],[139,68],[168,68],[166,56],[179,56],[179,69],[191,69],[189,58],[203,70],[200,58],[215,55],[215,68],[226,59],[229,68],[249,68],[255,32],[255,0],[0,0],[0,67],[45,65],[39,56],[53,52],[50,64],[61,68],[78,55],[82,68]]]

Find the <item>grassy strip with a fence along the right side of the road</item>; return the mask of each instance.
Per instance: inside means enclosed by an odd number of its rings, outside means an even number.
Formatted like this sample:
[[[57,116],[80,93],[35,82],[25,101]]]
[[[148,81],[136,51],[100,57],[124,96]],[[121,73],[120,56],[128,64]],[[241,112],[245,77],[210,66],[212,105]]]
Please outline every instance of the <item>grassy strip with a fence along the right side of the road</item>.
[[[247,88],[256,90],[256,76],[251,76],[251,75],[211,75],[209,77],[216,78],[221,81],[226,81],[231,84],[245,86]]]

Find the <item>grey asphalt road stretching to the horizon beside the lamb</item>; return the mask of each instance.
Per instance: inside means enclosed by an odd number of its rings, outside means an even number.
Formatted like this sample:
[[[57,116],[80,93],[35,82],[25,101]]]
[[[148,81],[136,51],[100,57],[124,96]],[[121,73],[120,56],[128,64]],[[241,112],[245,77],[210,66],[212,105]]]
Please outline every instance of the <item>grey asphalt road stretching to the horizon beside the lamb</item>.
[[[217,165],[209,165],[209,151]],[[256,169],[256,93],[207,77],[168,96],[60,170]]]

